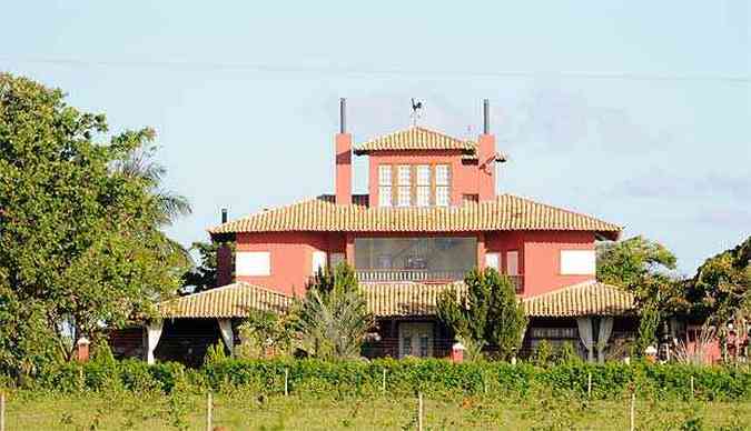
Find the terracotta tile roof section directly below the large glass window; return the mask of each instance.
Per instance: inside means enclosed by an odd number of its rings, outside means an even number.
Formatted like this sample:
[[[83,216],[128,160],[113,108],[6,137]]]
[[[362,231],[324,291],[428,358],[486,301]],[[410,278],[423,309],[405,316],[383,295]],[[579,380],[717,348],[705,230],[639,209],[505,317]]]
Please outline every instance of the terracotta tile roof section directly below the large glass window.
[[[457,301],[466,293],[463,282],[448,284],[360,283],[368,311],[377,317],[435,315],[438,298],[446,290],[456,293]]]

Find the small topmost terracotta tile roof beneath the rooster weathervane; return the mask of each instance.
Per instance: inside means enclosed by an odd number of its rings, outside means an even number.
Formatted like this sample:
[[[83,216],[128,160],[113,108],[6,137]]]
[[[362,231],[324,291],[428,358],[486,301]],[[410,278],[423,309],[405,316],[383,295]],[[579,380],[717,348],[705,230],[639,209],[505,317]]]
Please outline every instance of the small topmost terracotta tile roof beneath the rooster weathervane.
[[[472,141],[452,138],[422,127],[412,127],[358,143],[355,146],[355,154],[402,150],[461,150],[473,153],[475,147],[476,143]]]

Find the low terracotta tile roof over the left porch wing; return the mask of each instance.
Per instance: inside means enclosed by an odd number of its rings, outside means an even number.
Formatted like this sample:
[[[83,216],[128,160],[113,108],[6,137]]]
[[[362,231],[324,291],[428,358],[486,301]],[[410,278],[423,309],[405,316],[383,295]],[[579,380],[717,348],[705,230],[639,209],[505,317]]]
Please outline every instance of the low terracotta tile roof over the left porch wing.
[[[157,304],[165,318],[245,318],[249,310],[284,312],[291,299],[259,285],[237,282]]]

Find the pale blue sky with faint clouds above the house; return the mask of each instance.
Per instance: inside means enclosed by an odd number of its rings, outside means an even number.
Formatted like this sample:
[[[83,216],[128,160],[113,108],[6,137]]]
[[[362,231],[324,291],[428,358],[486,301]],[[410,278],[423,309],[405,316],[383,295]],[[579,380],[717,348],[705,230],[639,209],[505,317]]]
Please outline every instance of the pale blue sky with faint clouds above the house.
[[[332,192],[342,97],[356,142],[407,127],[413,97],[474,138],[490,99],[500,192],[660,241],[684,274],[751,234],[745,0],[0,0],[0,70],[156,129],[186,245],[223,207]]]

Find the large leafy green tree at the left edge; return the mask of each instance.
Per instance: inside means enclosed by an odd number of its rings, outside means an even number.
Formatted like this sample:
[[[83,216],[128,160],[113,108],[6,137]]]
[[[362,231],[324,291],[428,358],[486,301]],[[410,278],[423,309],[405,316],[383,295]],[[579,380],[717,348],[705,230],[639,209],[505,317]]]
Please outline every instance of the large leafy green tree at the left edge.
[[[155,133],[107,132],[62,91],[0,74],[0,370],[70,358],[179,285],[185,253],[160,228],[186,202],[126,168],[151,163]]]

